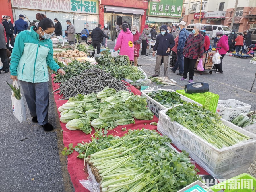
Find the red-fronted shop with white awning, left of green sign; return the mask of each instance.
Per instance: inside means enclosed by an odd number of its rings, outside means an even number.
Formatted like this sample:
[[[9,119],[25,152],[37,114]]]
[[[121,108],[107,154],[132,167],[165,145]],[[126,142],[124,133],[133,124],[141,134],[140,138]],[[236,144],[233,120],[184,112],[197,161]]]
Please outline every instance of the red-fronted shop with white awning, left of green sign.
[[[108,25],[111,40],[115,40],[117,36],[116,26],[126,21],[129,26],[136,25],[138,31],[144,28],[146,20],[146,9],[148,1],[117,1],[112,2],[101,0],[99,5],[100,24]],[[142,28],[143,27],[143,28]]]

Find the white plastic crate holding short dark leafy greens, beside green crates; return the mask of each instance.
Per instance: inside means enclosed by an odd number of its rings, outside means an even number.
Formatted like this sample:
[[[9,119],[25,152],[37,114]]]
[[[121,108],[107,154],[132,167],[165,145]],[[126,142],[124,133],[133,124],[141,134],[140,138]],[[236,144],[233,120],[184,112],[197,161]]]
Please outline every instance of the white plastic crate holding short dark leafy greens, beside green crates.
[[[148,104],[148,108],[154,113],[154,115],[159,118],[159,112],[161,110],[167,109],[165,106],[163,106],[162,104],[158,103],[156,100],[152,99],[150,96],[147,95],[147,93],[153,92],[153,91],[158,91],[158,90],[165,90],[165,91],[170,91],[170,92],[175,92],[172,89],[156,89],[156,90],[145,90],[145,91],[141,91],[141,96],[145,96],[147,98],[147,104]],[[179,94],[179,93],[177,93]],[[194,100],[185,97],[184,95],[180,95],[180,98],[186,102],[189,103],[196,103],[199,106],[202,106],[200,103],[195,102]]]

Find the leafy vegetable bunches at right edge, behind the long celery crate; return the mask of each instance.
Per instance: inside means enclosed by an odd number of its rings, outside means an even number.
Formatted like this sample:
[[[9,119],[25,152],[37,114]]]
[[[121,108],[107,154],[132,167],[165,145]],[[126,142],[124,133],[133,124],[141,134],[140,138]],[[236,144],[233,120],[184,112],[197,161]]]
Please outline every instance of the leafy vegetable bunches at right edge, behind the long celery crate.
[[[239,127],[247,127],[249,125],[256,123],[256,111],[251,111],[248,114],[241,113],[235,119],[233,119],[232,123]]]

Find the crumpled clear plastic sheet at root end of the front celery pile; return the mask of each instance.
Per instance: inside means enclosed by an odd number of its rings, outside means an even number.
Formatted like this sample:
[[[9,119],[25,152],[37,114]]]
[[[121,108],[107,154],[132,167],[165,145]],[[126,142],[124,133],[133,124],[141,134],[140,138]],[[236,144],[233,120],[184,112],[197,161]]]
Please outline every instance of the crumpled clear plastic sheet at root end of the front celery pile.
[[[89,173],[88,180],[79,180],[79,183],[91,192],[100,192],[100,184],[96,181],[95,176],[92,174],[90,166],[87,164],[87,170]]]

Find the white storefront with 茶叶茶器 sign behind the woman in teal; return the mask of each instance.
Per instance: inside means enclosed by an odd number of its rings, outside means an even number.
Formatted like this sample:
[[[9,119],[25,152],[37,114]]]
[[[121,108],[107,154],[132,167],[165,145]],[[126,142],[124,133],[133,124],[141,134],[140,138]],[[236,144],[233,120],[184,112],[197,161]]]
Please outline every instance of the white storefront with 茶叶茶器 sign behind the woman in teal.
[[[62,30],[67,29],[66,20],[75,27],[75,33],[80,33],[85,27],[91,31],[98,25],[99,3],[97,0],[11,0],[14,20],[19,15],[26,15],[25,21],[32,22],[37,13],[43,13],[48,18],[57,18],[62,24]],[[28,21],[28,24],[30,23]]]

